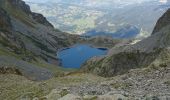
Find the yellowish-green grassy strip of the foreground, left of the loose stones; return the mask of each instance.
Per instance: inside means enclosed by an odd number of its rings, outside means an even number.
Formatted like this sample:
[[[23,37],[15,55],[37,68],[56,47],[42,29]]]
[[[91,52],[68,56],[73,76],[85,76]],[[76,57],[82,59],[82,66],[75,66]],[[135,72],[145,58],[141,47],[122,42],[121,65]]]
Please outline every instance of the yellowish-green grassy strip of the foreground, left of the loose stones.
[[[33,82],[18,75],[0,75],[0,98],[5,100],[18,100],[25,97],[31,99],[35,97],[43,98],[55,88],[76,86],[86,82],[94,83],[101,80],[103,78],[88,74],[79,74],[53,78],[42,82]]]

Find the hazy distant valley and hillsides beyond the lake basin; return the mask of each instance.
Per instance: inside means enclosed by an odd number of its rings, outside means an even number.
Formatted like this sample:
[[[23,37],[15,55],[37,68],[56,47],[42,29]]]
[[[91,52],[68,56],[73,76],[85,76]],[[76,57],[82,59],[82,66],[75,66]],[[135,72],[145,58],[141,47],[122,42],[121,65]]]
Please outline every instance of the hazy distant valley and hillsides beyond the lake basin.
[[[165,0],[166,1],[166,0]],[[31,10],[42,13],[62,31],[72,34],[116,34],[128,26],[136,27],[136,35],[147,37],[156,20],[170,7],[164,0],[26,0]],[[128,29],[131,31],[131,28]],[[90,33],[92,34],[92,33]],[[94,34],[92,36],[94,36]],[[121,38],[121,36],[118,36]]]

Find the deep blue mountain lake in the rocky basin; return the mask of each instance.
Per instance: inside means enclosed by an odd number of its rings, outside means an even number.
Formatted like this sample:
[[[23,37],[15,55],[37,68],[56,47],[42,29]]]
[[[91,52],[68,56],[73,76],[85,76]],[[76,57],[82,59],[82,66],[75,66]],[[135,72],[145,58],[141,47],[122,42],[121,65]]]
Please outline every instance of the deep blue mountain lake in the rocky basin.
[[[64,68],[80,68],[88,59],[94,56],[102,56],[107,53],[105,48],[93,48],[89,45],[75,45],[58,52],[57,57],[61,60]]]

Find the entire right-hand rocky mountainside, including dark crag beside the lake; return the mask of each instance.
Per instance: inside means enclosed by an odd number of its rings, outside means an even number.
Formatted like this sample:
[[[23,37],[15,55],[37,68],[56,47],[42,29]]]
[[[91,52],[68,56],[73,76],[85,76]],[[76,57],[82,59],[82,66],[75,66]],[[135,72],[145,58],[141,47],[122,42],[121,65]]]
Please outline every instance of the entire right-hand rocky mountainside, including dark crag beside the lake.
[[[134,44],[113,48],[107,57],[93,58],[83,67],[85,72],[92,72],[100,76],[111,77],[126,73],[130,69],[149,66],[160,53],[169,48],[169,13],[168,10],[157,22],[156,33]],[[165,23],[164,23],[165,22]]]

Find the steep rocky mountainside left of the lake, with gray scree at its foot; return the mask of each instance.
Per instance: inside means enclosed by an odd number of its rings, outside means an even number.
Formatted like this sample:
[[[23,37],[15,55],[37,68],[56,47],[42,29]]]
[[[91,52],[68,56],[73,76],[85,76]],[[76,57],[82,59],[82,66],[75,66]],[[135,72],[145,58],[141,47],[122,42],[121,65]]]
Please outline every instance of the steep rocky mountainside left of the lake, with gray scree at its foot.
[[[59,69],[57,50],[75,43],[72,38],[79,37],[54,29],[25,2],[0,0],[0,68],[16,68],[30,79],[48,79],[54,75],[52,69]]]

